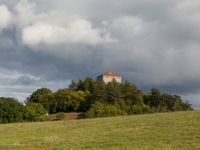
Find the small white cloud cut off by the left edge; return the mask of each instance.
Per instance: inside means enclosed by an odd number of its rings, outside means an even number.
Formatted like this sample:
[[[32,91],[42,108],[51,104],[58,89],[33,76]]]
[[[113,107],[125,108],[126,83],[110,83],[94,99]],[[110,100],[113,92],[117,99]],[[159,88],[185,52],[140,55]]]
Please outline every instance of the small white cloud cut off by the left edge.
[[[4,5],[0,5],[0,31],[8,28],[12,21],[12,14]]]

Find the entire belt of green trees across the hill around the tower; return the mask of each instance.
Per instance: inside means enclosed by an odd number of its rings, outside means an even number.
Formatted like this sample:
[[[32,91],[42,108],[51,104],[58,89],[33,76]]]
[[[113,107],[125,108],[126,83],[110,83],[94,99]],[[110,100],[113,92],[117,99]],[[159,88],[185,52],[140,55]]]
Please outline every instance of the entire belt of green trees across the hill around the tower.
[[[15,98],[0,97],[0,123],[49,121],[46,113],[85,112],[85,117],[107,117],[145,113],[192,110],[188,101],[179,95],[161,93],[152,88],[144,94],[136,85],[112,82],[105,84],[87,77],[68,88],[52,92],[40,88],[23,103]]]

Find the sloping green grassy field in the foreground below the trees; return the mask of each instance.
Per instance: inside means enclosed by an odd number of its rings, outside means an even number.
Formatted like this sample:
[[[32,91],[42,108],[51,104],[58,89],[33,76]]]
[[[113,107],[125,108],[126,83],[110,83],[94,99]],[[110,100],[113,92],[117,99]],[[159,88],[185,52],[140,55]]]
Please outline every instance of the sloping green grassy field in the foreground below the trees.
[[[200,110],[0,124],[0,149],[195,150],[200,149]]]

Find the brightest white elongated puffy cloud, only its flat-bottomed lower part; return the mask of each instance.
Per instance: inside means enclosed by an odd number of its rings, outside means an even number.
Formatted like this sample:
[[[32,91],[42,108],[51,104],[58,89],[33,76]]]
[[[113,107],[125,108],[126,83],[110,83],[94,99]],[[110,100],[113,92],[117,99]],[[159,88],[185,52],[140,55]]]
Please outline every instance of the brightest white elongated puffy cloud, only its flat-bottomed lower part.
[[[36,23],[22,30],[22,41],[30,46],[37,44],[104,44],[116,43],[110,34],[99,29],[92,28],[92,23],[87,20],[77,20],[67,27],[53,26],[45,23]]]

